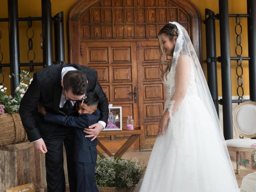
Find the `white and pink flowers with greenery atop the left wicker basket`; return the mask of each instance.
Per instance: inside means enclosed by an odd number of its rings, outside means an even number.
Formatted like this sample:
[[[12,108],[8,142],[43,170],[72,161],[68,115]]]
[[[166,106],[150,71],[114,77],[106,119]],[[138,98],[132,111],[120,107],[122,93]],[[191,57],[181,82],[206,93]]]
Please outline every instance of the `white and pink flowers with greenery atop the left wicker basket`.
[[[14,74],[12,74],[12,76],[14,76]],[[10,76],[10,78],[12,76]],[[24,93],[28,89],[28,84],[25,84],[24,82],[28,81],[30,84],[30,82],[32,81],[32,78],[30,78],[30,73],[24,70],[21,71],[19,76],[19,86],[15,89],[13,97],[7,96],[7,88],[0,85],[0,114],[13,114],[15,112],[19,112],[20,101],[24,96]]]

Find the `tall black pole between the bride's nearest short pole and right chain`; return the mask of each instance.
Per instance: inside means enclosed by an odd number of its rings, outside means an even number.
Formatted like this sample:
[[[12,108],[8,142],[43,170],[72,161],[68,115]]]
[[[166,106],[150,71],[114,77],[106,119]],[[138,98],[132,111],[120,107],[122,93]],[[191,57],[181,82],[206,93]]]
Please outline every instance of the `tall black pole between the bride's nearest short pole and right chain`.
[[[228,0],[219,0],[224,138],[233,138]]]

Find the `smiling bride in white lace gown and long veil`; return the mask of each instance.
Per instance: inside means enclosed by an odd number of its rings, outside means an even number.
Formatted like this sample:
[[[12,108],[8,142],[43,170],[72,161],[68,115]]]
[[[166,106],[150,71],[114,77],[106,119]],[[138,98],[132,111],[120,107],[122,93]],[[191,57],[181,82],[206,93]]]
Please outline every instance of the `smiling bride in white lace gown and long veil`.
[[[202,68],[187,31],[169,22],[158,34],[164,113],[140,192],[237,192],[238,184]]]

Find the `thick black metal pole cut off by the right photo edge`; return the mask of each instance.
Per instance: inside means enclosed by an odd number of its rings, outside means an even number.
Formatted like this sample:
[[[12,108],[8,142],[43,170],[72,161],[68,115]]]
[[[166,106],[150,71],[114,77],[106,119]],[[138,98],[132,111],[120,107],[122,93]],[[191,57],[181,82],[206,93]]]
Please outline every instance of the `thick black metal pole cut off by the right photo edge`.
[[[250,100],[256,101],[256,2],[247,0]]]

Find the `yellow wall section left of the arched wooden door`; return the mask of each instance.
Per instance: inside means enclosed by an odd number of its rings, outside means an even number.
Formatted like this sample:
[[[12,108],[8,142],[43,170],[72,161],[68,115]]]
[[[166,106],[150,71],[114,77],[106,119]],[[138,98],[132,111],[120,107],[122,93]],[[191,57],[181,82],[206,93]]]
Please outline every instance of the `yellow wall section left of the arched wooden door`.
[[[58,12],[64,12],[64,34],[65,34],[65,56],[66,62],[68,62],[68,38],[66,33],[67,19],[70,8],[76,3],[77,0],[51,0],[52,3],[52,17]],[[18,16],[19,17],[41,17],[41,0],[18,0]],[[8,3],[7,0],[0,0],[0,18],[8,17]],[[19,34],[20,34],[20,62],[29,62],[27,59],[28,52],[28,38],[26,37],[26,30],[28,28],[28,23],[26,21],[19,22]],[[32,28],[34,29],[33,38],[33,50],[36,53],[34,62],[42,62],[42,49],[40,47],[42,33],[42,22],[33,21]],[[9,63],[9,34],[8,34],[8,22],[0,22],[0,31],[2,32],[2,38],[0,39],[1,51],[4,54],[4,60],[2,63]],[[54,35],[54,28],[52,25],[52,34]],[[54,39],[53,51],[54,51]],[[54,54],[53,54],[54,57]],[[54,59],[53,59],[54,60]],[[41,69],[42,67],[35,67],[34,71]],[[23,67],[21,70],[29,71],[29,67]],[[3,68],[4,74],[4,84],[6,86],[7,94],[10,94],[10,68]],[[2,76],[0,75],[0,82],[2,82]]]

